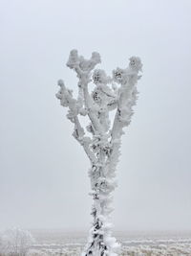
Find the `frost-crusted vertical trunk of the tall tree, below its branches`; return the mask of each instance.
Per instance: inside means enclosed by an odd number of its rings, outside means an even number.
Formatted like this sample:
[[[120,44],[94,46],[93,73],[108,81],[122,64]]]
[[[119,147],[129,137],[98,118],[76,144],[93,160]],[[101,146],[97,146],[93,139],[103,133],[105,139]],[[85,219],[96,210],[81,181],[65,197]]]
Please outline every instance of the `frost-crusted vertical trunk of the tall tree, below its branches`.
[[[112,237],[110,214],[112,208],[112,192],[116,185],[106,162],[104,151],[100,150],[99,160],[92,166],[90,171],[92,193],[94,204],[92,208],[93,225],[90,229],[89,241],[85,247],[83,256],[117,256],[119,244]]]

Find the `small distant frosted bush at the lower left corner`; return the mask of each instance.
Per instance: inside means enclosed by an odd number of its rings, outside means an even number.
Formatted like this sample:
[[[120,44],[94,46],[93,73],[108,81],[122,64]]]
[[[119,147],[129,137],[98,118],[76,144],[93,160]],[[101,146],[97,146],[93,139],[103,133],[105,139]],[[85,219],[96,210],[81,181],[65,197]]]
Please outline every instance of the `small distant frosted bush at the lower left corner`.
[[[0,255],[27,255],[34,239],[28,230],[12,228],[6,230],[0,239]]]

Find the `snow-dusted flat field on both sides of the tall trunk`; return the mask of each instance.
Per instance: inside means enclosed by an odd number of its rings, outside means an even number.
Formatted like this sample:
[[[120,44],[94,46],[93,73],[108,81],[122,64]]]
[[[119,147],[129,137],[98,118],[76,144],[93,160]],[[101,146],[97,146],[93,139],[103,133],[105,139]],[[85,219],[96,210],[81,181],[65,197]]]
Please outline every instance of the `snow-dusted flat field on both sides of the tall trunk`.
[[[86,243],[86,237],[82,233],[65,234],[61,231],[33,231],[32,234],[36,243],[30,249],[28,256],[79,256]],[[122,244],[121,256],[191,256],[191,232],[134,232],[115,235]]]

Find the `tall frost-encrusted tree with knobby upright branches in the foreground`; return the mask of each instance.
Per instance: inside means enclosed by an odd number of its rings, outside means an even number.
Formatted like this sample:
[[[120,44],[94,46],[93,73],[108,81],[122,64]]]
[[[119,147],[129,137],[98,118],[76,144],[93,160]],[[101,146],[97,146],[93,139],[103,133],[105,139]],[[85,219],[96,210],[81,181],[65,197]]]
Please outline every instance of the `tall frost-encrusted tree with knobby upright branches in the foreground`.
[[[94,198],[92,216],[94,218],[88,244],[83,256],[115,256],[120,245],[112,237],[110,215],[112,192],[117,186],[115,180],[118,157],[120,155],[123,128],[129,126],[133,115],[133,106],[138,98],[137,82],[141,76],[141,61],[138,57],[129,59],[127,68],[113,71],[112,78],[104,70],[95,69],[100,63],[100,56],[94,52],[90,59],[78,56],[71,51],[67,66],[74,70],[78,78],[78,96],[74,99],[73,91],[64,81],[56,97],[62,106],[68,107],[68,119],[74,124],[74,138],[83,147],[91,162],[91,196]],[[90,92],[89,84],[94,83]],[[110,111],[116,111],[111,122]],[[83,128],[79,117],[87,116],[89,124]]]

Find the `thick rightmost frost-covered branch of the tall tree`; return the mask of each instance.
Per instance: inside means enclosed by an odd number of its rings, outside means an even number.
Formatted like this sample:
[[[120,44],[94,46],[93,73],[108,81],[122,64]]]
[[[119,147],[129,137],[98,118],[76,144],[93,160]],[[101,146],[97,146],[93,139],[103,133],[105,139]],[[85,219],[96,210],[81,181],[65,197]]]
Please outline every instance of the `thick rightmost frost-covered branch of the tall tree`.
[[[133,106],[138,99],[137,82],[141,78],[138,72],[141,71],[140,58],[130,58],[129,67],[126,69],[117,68],[113,71],[113,80],[120,84],[118,89],[117,112],[111,130],[112,152],[107,159],[106,170],[108,175],[115,176],[117,162],[120,155],[121,135],[123,128],[128,127],[134,113]]]

